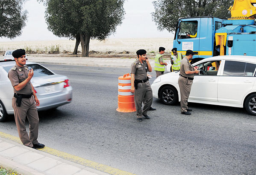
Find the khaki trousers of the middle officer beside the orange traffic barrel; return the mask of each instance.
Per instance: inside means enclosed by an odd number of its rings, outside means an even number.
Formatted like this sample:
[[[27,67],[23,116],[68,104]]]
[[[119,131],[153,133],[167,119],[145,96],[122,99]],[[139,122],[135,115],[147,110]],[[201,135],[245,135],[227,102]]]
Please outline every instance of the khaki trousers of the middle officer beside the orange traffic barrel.
[[[141,110],[142,100],[145,99],[143,110]],[[152,89],[149,81],[146,83],[138,83],[138,88],[134,91],[134,102],[137,112],[137,118],[142,118],[142,115],[147,115],[147,111],[153,101]]]

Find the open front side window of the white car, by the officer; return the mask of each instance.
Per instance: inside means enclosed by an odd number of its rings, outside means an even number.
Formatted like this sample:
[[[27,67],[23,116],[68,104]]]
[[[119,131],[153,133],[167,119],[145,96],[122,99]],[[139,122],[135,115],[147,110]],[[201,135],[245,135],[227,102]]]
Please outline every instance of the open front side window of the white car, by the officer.
[[[200,71],[200,74],[198,75],[215,75],[216,76],[218,74],[218,69],[220,64],[221,64],[220,60],[213,60],[213,61],[200,63],[194,67]]]

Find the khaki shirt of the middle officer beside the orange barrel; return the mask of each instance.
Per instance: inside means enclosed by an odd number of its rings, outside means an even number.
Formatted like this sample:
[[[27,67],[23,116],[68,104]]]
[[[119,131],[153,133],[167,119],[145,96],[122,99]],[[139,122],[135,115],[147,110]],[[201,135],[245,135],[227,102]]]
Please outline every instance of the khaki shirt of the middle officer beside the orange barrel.
[[[140,60],[136,60],[131,65],[131,74],[135,75],[136,80],[145,80],[147,79],[147,62],[143,61],[141,64]]]

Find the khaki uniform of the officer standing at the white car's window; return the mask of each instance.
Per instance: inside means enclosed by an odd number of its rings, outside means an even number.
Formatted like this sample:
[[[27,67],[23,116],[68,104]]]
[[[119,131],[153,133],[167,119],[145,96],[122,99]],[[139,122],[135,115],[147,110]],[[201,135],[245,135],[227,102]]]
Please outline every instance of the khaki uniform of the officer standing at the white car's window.
[[[180,91],[180,111],[187,112],[188,109],[188,97],[191,91],[191,86],[193,80],[189,80],[194,78],[194,74],[187,75],[186,71],[193,71],[193,66],[187,59],[187,57],[183,58],[180,63],[180,72],[181,75],[178,79],[179,91]],[[183,77],[182,77],[183,76]]]

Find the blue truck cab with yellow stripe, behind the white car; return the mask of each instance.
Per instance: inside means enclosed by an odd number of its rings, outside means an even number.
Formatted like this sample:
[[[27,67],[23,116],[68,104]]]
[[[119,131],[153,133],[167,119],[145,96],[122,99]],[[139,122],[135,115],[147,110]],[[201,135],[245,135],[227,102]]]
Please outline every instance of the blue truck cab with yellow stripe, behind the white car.
[[[219,55],[219,48],[215,44],[216,30],[223,26],[224,19],[216,17],[188,17],[180,18],[177,22],[173,47],[185,55],[190,49],[197,52],[193,62],[207,57]]]

